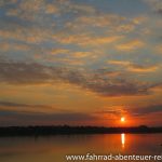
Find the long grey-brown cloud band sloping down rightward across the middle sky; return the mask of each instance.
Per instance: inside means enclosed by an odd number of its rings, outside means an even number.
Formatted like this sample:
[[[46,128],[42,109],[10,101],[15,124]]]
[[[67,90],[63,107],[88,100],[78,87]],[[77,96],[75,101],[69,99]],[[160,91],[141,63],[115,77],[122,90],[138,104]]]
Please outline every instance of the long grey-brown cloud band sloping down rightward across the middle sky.
[[[116,71],[114,71],[116,72]],[[153,85],[126,80],[105,70],[79,70],[37,63],[0,63],[0,82],[10,84],[71,83],[104,96],[144,95]]]

